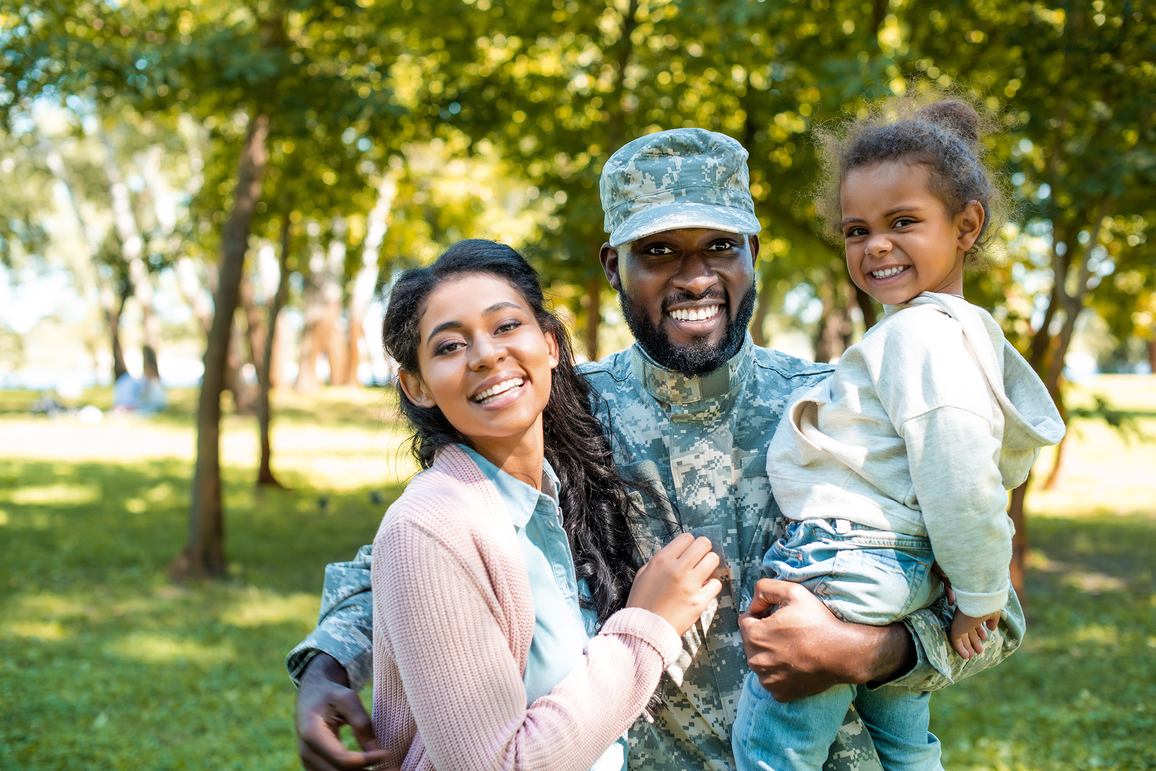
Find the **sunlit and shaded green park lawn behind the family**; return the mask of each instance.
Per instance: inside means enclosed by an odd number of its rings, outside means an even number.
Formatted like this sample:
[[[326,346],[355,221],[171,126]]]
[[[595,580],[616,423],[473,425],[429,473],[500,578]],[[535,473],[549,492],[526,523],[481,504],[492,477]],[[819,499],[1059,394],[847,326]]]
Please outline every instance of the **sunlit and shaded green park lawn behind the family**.
[[[1095,394],[1150,413],[1156,377],[1102,376],[1072,401]],[[282,659],[324,565],[372,539],[414,470],[388,394],[276,394],[288,490],[254,489],[255,424],[227,417],[229,578],[184,586],[165,566],[195,394],[97,425],[30,417],[34,398],[0,392],[0,768],[298,768]],[[934,696],[948,769],[1156,769],[1156,420],[1139,428],[1148,442],[1074,421],[1059,483],[1030,494],[1028,638]]]

